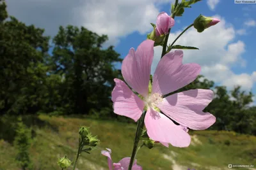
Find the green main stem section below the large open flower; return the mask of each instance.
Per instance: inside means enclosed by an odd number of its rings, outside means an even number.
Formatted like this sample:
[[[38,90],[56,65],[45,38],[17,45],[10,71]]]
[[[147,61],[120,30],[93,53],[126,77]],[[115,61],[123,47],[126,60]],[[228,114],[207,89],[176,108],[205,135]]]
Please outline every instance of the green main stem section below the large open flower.
[[[134,139],[132,155],[131,155],[131,160],[130,160],[130,164],[129,164],[128,170],[132,169],[132,165],[133,165],[136,153],[137,153],[138,143],[140,141],[140,136],[141,136],[141,133],[142,133],[142,130],[143,130],[143,127],[144,127],[145,114],[146,114],[146,111],[143,111],[140,119],[138,120],[137,130],[136,130],[136,135],[135,135],[135,139]]]

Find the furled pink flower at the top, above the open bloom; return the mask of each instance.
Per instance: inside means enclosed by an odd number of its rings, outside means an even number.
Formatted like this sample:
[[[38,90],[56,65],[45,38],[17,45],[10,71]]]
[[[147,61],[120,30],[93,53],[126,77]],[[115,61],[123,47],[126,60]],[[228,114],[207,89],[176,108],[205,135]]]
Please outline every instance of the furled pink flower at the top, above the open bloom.
[[[156,36],[167,34],[168,30],[173,27],[174,20],[167,13],[161,12],[157,15]]]

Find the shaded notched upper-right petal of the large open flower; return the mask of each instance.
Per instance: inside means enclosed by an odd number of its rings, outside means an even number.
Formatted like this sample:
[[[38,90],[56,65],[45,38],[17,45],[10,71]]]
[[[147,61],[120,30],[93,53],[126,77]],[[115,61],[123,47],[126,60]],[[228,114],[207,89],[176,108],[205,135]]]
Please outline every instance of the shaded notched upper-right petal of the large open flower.
[[[175,50],[164,55],[153,76],[152,91],[168,94],[188,85],[201,71],[198,64],[182,64],[183,52]]]

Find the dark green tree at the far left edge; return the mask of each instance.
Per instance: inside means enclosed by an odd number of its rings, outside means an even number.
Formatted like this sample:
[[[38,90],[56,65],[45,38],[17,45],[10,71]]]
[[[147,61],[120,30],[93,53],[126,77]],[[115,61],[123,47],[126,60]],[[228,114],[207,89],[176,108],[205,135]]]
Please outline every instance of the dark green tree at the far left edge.
[[[44,104],[49,37],[8,17],[0,4],[0,113],[35,113]]]

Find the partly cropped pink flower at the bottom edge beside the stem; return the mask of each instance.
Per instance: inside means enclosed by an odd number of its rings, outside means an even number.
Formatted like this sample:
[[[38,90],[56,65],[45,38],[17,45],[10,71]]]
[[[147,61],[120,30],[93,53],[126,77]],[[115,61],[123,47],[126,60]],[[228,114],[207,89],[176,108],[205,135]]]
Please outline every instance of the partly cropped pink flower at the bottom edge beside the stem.
[[[118,163],[113,163],[110,155],[111,149],[106,148],[106,150],[102,150],[101,154],[108,157],[109,170],[128,170],[130,159],[131,159],[130,157],[125,157],[122,160],[120,160]],[[137,165],[137,160],[134,160],[132,170],[142,170],[142,167]]]

